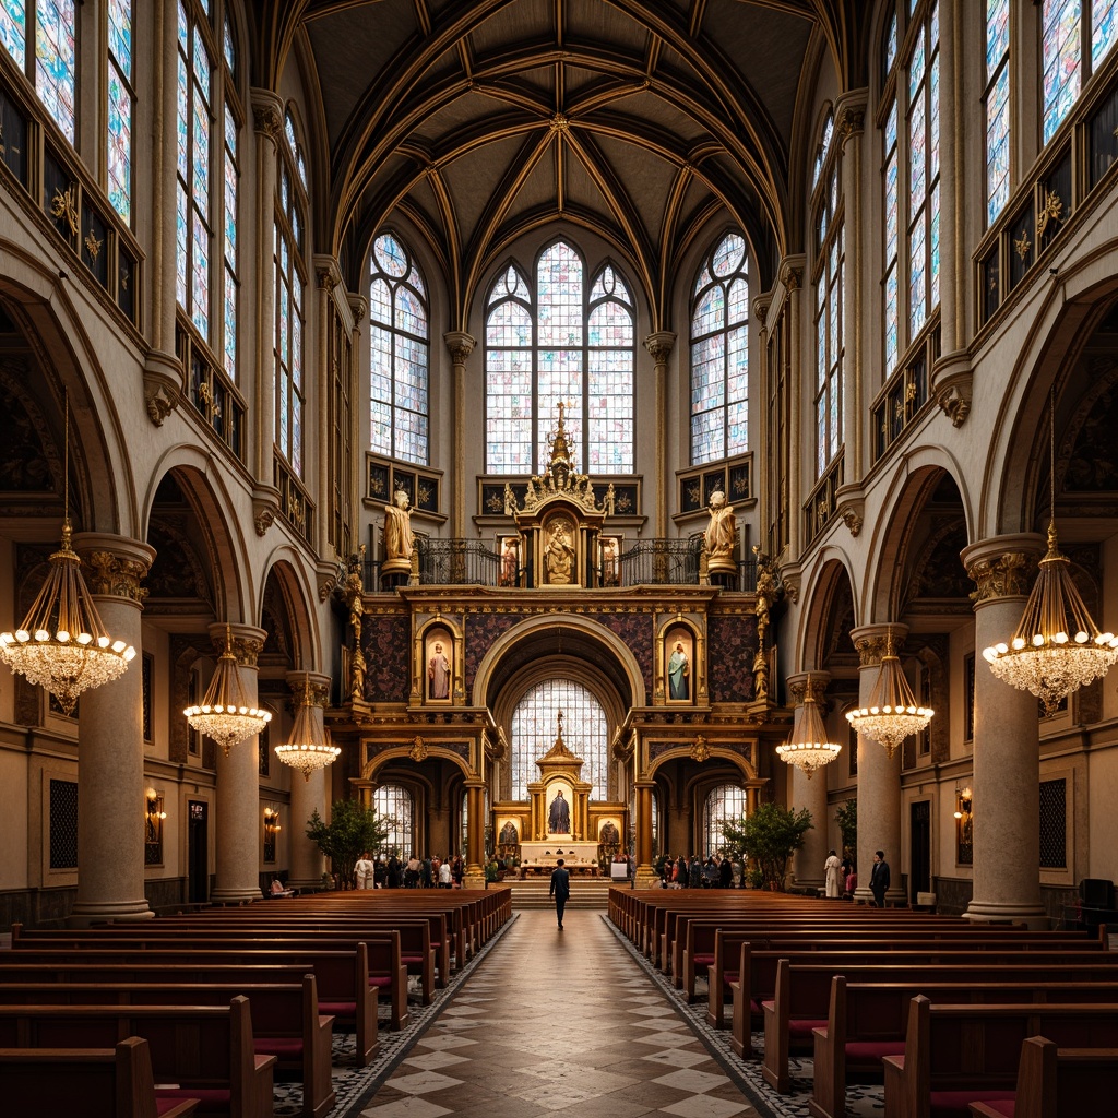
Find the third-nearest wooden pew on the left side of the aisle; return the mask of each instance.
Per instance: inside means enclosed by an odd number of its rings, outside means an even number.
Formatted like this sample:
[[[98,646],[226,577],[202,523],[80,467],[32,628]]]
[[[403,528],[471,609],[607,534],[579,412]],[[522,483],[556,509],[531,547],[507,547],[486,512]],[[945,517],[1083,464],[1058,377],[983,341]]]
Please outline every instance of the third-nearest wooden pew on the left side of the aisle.
[[[248,998],[257,1054],[303,1083],[303,1114],[324,1118],[337,1101],[330,1078],[334,1018],[319,1013],[313,974],[300,985],[263,983],[11,983],[0,984],[2,1005],[228,1005]]]

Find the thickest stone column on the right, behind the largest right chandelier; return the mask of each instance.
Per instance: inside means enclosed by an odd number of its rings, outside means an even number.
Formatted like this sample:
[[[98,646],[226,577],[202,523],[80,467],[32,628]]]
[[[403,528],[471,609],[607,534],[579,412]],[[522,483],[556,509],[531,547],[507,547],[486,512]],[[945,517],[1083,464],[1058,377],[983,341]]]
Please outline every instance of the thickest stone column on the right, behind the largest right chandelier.
[[[1008,642],[1043,551],[1039,536],[998,536],[960,552],[975,597],[974,896],[967,920],[1048,927],[1040,885],[1036,697],[1003,683],[982,650]],[[861,811],[861,808],[860,808]],[[859,817],[861,825],[861,816]]]

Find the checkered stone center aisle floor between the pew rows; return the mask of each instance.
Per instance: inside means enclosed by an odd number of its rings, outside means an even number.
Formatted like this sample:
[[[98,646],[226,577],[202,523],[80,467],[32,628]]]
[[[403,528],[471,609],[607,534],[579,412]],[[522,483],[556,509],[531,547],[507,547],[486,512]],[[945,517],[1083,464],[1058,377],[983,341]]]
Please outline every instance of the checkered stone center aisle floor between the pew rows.
[[[521,912],[368,1118],[755,1118],[600,912]]]

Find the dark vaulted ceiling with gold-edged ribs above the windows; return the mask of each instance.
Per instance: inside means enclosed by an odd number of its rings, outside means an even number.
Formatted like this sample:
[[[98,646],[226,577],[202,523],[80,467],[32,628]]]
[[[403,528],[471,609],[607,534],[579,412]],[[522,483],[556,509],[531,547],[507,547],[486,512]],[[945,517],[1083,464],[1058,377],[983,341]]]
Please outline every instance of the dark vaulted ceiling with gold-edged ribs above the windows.
[[[404,216],[461,325],[509,246],[561,219],[613,246],[660,315],[711,218],[745,229],[766,286],[798,249],[790,153],[812,123],[798,95],[821,66],[859,80],[869,7],[256,0],[257,80],[274,83],[295,48],[329,140],[321,234],[348,280]]]

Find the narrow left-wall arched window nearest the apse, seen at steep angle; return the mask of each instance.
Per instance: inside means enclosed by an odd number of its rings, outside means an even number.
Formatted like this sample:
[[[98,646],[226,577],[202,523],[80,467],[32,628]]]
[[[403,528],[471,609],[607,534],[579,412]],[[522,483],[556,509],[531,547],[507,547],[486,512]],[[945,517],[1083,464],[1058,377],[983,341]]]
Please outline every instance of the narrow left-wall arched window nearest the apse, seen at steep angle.
[[[306,284],[304,221],[306,164],[291,113],[284,116],[275,206],[276,445],[292,472],[303,476],[303,292]]]

